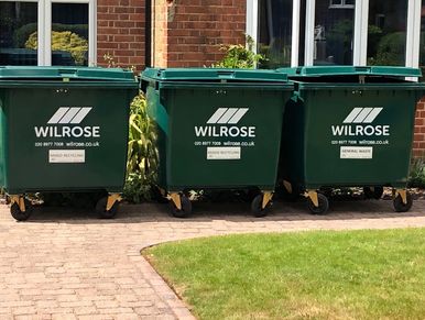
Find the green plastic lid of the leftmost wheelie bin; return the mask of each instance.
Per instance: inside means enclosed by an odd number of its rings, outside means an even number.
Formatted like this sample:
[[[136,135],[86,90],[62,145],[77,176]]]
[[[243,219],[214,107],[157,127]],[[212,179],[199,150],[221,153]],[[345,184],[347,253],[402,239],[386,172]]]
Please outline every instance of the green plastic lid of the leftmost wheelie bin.
[[[31,67],[4,66],[0,67],[1,80],[25,79],[69,79],[69,80],[98,80],[98,81],[132,81],[134,74],[121,68],[101,67]]]

